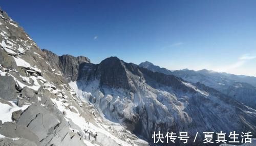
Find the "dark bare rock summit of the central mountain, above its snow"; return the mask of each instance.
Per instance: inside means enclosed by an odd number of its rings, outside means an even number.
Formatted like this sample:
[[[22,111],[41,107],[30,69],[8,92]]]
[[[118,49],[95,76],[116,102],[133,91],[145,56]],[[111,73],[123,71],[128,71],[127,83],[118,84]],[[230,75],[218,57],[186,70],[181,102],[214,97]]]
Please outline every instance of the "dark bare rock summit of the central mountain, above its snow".
[[[135,90],[133,81],[129,80],[126,70],[139,75],[135,64],[127,64],[117,57],[109,57],[100,64],[83,63],[80,65],[78,80],[100,81],[101,86],[110,86],[127,90]]]

